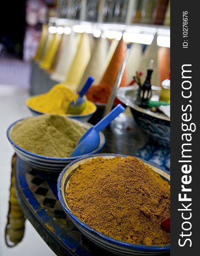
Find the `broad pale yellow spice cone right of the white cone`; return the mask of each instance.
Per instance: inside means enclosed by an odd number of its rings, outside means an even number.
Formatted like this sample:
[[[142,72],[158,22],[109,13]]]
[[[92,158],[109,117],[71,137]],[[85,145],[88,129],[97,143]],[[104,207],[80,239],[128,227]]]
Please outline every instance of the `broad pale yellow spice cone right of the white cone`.
[[[86,33],[81,35],[80,42],[78,44],[78,49],[75,58],[70,67],[67,78],[64,84],[69,87],[72,91],[78,89],[78,85],[87,67],[88,61],[90,60],[90,41],[89,36]]]

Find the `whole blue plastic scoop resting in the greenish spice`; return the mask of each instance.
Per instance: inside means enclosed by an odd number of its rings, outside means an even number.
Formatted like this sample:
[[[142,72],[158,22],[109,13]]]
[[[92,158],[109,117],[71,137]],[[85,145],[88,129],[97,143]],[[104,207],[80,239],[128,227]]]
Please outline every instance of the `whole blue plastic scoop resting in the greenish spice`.
[[[88,154],[98,148],[100,143],[99,132],[106,128],[113,119],[119,116],[125,108],[118,104],[108,113],[104,118],[101,119],[95,126],[91,127],[79,140],[76,148],[71,154],[71,157],[80,156],[82,154]]]

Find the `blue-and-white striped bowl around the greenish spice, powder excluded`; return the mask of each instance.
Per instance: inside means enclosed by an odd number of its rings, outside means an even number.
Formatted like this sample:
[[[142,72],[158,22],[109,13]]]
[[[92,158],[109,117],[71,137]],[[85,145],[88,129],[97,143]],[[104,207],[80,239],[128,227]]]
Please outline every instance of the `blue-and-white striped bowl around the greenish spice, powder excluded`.
[[[73,160],[76,160],[78,158],[81,158],[83,156],[89,156],[91,154],[96,154],[98,153],[105,144],[105,137],[102,132],[99,132],[100,136],[100,143],[98,148],[96,148],[94,151],[90,152],[89,154],[84,154],[81,156],[76,156],[76,157],[66,157],[66,158],[57,158],[57,157],[45,157],[42,155],[34,154],[32,152],[26,151],[25,149],[19,147],[16,145],[11,137],[12,133],[12,128],[14,127],[15,124],[18,122],[22,121],[23,119],[20,119],[12,125],[9,126],[7,130],[7,137],[9,139],[9,142],[12,144],[16,154],[24,160],[29,166],[31,166],[33,169],[37,169],[40,172],[44,172],[46,174],[59,174],[65,166],[67,166],[68,163],[72,162]],[[93,125],[89,124],[88,122],[84,121],[78,121],[74,120],[74,122],[77,122],[78,125],[80,125],[82,128],[84,128],[86,131],[90,129]]]

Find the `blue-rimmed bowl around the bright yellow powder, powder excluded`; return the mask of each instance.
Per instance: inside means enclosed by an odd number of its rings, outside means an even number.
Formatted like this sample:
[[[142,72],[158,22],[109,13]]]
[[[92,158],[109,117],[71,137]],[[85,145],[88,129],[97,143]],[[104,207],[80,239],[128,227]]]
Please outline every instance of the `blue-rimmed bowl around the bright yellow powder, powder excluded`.
[[[33,96],[33,97],[35,97],[35,96]],[[29,99],[31,99],[31,98],[29,98]],[[40,111],[37,111],[37,110],[29,107],[29,105],[27,104],[27,101],[26,101],[26,106],[29,109],[29,111],[31,111],[33,116],[39,116],[39,115],[44,114],[44,112],[40,112]],[[78,120],[78,121],[85,121],[85,122],[87,122],[93,116],[93,114],[97,110],[96,105],[93,102],[91,102],[91,104],[93,104],[94,110],[92,112],[88,113],[88,114],[77,114],[77,115],[66,114],[65,116],[67,116],[69,118],[72,118],[72,119],[75,119],[75,120]]]

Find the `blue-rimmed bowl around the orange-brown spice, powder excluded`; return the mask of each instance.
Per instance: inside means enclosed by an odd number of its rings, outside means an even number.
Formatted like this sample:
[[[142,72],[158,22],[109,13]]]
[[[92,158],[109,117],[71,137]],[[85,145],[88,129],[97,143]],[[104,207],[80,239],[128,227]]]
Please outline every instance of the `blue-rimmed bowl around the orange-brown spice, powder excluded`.
[[[66,166],[61,174],[58,177],[58,199],[66,212],[67,216],[71,219],[71,221],[75,224],[75,226],[83,233],[88,239],[93,241],[95,244],[100,247],[118,255],[156,255],[159,253],[165,253],[170,251],[170,244],[166,244],[164,246],[148,246],[148,245],[140,245],[140,244],[132,244],[128,242],[119,241],[117,239],[113,239],[109,236],[104,235],[103,233],[93,229],[92,227],[85,224],[81,221],[75,214],[73,214],[70,210],[70,207],[67,204],[66,200],[66,188],[69,186],[69,180],[71,175],[75,172],[77,167],[85,162],[91,160],[96,157],[103,157],[105,159],[114,158],[116,156],[119,157],[127,157],[121,154],[96,154],[91,156],[85,156],[81,159],[77,159]],[[170,173],[164,169],[161,169],[158,166],[155,166],[145,160],[142,160],[146,163],[151,169],[161,175],[165,180],[170,180]]]

